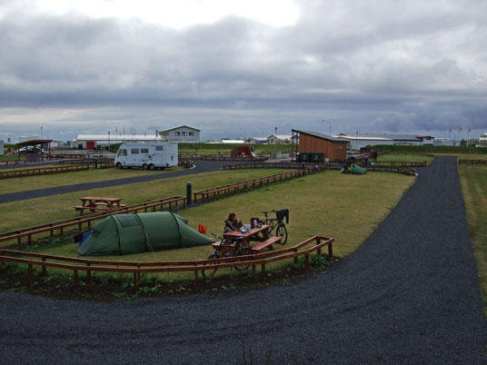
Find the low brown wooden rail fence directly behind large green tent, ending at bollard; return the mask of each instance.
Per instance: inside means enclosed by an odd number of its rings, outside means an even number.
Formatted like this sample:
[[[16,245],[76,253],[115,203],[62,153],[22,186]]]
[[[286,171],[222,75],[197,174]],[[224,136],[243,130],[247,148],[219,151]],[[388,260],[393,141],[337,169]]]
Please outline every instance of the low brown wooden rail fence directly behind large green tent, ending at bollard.
[[[162,211],[164,207],[173,211],[174,209],[185,208],[186,198],[182,196],[173,196],[171,198],[164,198],[154,200],[152,202],[140,202],[133,205],[128,205],[120,209],[114,209],[109,212],[95,212],[93,214],[87,214],[81,217],[70,218],[64,221],[50,222],[45,224],[36,225],[34,227],[27,227],[21,230],[15,230],[10,232],[0,233],[0,242],[7,242],[16,240],[18,244],[22,243],[22,238],[27,237],[27,242],[30,244],[32,242],[32,236],[39,233],[50,232],[51,237],[54,236],[55,232],[63,234],[65,228],[78,226],[79,231],[83,231],[83,224],[87,227],[91,227],[92,222],[104,219],[110,214],[114,213],[131,213],[131,212],[148,212],[152,210],[155,212],[156,208],[160,208]]]

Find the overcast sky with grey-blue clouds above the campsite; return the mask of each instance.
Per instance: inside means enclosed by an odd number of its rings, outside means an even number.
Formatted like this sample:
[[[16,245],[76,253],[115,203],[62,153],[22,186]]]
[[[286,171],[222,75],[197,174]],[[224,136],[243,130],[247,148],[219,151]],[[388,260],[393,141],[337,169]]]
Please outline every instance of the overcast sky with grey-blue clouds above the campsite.
[[[0,0],[0,139],[478,137],[486,19],[479,0]]]

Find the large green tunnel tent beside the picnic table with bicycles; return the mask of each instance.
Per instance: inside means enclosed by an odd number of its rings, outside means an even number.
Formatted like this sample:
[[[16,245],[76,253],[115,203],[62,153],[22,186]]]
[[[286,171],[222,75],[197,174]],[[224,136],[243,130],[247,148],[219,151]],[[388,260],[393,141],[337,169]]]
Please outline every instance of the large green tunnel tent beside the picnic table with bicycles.
[[[213,240],[173,212],[114,214],[90,228],[76,250],[82,256],[127,255],[201,246]]]

